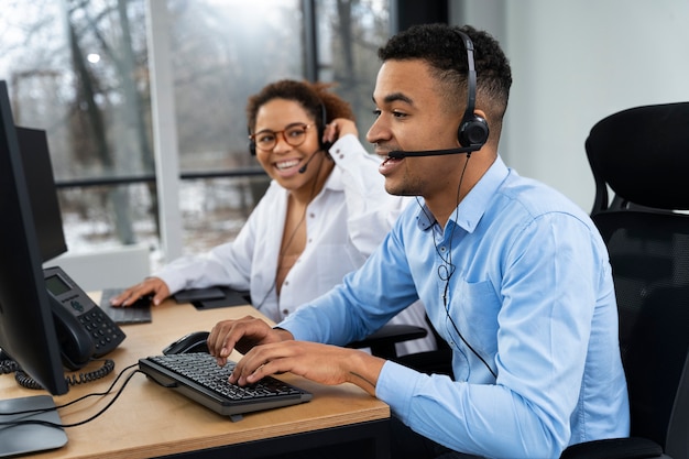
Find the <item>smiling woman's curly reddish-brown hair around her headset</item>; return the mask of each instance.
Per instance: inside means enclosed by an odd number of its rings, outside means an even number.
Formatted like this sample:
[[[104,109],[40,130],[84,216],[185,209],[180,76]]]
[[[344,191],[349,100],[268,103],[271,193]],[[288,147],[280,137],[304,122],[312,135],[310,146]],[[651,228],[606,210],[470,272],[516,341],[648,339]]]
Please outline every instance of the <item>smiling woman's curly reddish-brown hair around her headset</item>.
[[[294,100],[310,113],[319,127],[325,127],[336,118],[356,121],[351,106],[336,94],[329,91],[333,84],[297,81],[282,79],[265,86],[256,95],[249,97],[247,102],[247,123],[253,131],[259,109],[273,99]],[[324,118],[325,112],[325,120]]]

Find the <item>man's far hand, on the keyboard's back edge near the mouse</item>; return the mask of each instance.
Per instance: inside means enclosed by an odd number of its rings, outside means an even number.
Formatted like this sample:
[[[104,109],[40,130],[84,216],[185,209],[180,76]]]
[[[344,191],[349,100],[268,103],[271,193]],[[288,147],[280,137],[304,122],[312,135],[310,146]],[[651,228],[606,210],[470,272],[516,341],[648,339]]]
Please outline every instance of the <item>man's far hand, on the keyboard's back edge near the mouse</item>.
[[[245,353],[254,346],[291,339],[292,334],[287,330],[274,329],[259,318],[247,316],[216,324],[208,336],[208,351],[218,360],[219,365],[225,365],[233,349]]]

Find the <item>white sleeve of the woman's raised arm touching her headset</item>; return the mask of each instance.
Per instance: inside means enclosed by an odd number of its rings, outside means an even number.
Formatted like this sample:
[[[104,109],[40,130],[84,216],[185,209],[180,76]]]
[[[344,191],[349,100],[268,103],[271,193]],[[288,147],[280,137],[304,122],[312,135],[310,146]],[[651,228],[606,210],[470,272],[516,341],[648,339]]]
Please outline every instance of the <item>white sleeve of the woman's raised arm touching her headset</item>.
[[[342,172],[349,237],[359,252],[369,256],[406,207],[408,198],[385,190],[378,157],[368,153],[356,135],[342,136],[329,153]]]

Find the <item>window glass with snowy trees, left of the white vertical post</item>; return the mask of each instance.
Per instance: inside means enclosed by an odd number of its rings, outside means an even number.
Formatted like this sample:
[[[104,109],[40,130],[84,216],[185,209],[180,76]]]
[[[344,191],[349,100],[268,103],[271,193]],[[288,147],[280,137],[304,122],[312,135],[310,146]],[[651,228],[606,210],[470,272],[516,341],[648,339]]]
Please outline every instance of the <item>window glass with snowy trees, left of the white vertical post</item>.
[[[152,182],[92,185],[153,174],[144,7],[3,2],[0,78],[15,123],[47,132],[56,181],[75,184],[59,192],[70,251],[156,233]]]

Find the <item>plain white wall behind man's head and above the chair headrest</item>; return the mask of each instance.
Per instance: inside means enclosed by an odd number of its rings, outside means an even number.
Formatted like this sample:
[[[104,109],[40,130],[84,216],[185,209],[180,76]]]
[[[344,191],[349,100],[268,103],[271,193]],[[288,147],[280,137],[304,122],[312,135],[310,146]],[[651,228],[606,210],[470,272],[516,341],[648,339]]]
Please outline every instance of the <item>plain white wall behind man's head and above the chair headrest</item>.
[[[689,100],[687,0],[469,0],[452,23],[497,39],[513,86],[501,154],[589,211],[583,142],[626,108]]]

